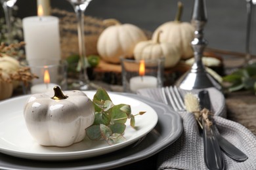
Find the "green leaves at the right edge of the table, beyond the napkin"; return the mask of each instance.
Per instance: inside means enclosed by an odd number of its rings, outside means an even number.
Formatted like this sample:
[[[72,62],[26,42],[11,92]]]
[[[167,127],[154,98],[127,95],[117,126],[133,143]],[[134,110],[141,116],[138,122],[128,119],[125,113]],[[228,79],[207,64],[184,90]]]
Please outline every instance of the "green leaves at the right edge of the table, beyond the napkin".
[[[256,63],[247,65],[223,77],[223,86],[228,92],[250,90],[256,92]]]

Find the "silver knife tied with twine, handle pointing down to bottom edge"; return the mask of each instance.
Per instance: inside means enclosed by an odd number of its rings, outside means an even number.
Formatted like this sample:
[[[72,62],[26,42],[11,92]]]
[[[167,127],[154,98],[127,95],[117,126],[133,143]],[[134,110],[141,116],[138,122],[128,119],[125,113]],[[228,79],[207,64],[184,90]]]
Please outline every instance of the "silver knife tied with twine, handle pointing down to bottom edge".
[[[209,93],[206,90],[202,90],[198,93],[200,99],[201,109],[211,109],[211,101],[209,99]],[[215,131],[213,124],[209,124],[206,120],[211,121],[211,115],[208,114],[205,120],[202,119],[203,124],[203,153],[205,165],[208,169],[224,169],[224,159],[221,153],[221,148],[215,137]]]

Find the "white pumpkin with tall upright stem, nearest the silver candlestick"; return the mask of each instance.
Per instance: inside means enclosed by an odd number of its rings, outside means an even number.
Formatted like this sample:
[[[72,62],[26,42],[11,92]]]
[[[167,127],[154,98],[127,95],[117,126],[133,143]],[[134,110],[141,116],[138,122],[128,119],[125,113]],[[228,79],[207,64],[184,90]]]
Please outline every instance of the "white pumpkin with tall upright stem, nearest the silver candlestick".
[[[178,12],[174,21],[165,22],[160,25],[152,35],[152,39],[156,39],[158,32],[163,31],[160,42],[172,42],[181,47],[181,58],[191,58],[194,54],[191,42],[194,39],[194,27],[188,22],[181,22],[183,5],[178,3]]]

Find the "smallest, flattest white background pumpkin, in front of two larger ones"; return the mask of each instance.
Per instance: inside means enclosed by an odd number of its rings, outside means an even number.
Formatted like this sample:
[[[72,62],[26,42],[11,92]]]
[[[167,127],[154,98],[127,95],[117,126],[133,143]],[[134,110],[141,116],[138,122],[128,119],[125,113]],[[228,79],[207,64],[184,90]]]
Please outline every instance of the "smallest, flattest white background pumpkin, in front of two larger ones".
[[[135,46],[135,59],[165,58],[165,68],[175,66],[181,59],[180,48],[171,42],[159,42],[161,31],[151,41],[142,41]]]

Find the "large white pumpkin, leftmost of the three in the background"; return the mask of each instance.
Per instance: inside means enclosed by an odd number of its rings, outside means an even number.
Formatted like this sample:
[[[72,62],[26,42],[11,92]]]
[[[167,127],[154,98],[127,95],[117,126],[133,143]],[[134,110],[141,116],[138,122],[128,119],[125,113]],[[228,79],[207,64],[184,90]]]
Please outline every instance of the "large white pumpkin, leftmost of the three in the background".
[[[110,21],[110,20],[108,20]],[[104,29],[97,42],[98,54],[104,61],[120,63],[120,57],[133,57],[135,45],[140,41],[146,41],[144,32],[133,24],[121,24],[111,19],[115,25]]]

